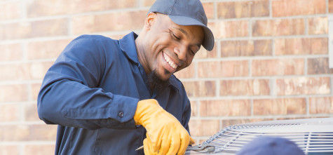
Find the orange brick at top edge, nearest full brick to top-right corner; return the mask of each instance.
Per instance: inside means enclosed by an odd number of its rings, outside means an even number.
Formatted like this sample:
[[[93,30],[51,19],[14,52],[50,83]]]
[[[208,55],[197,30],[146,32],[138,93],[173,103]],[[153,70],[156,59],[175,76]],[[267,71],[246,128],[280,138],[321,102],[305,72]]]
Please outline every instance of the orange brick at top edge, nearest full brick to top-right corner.
[[[272,1],[272,11],[273,17],[326,13],[326,1],[277,0]]]

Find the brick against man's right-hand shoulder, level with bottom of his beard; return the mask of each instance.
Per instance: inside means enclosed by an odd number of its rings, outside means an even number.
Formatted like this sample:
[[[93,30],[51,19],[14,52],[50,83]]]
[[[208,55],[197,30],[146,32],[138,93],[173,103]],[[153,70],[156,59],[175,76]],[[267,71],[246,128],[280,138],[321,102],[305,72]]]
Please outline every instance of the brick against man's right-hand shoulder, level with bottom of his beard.
[[[215,81],[186,81],[183,84],[189,97],[215,96]]]

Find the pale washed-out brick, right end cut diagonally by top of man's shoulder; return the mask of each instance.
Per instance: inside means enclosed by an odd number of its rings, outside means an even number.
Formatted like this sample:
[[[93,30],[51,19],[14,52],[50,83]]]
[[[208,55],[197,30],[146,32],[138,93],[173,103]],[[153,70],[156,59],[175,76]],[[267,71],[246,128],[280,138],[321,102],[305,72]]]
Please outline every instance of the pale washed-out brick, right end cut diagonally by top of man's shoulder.
[[[69,42],[69,39],[30,42],[27,44],[27,58],[29,60],[57,58]]]

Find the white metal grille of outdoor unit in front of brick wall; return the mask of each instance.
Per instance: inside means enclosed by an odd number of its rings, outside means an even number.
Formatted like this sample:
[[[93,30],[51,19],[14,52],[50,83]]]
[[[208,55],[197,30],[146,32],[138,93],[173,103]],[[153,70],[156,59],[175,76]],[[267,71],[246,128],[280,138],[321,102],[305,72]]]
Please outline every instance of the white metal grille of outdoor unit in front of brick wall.
[[[262,135],[285,137],[295,142],[306,154],[333,154],[333,118],[264,121],[229,126],[195,148],[201,148],[201,152],[206,153],[236,153],[255,137]]]

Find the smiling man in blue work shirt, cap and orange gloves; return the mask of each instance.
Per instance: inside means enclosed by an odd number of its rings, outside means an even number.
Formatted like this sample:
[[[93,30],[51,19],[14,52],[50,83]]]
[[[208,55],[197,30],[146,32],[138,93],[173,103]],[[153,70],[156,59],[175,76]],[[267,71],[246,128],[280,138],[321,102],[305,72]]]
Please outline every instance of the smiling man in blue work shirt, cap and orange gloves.
[[[55,154],[184,154],[191,106],[173,73],[201,45],[214,38],[199,0],[157,0],[139,36],[74,39],[38,97],[39,118],[60,125]]]

